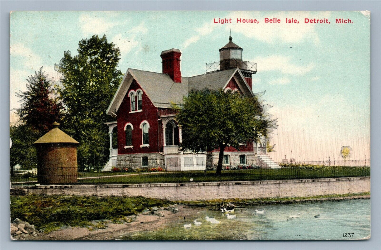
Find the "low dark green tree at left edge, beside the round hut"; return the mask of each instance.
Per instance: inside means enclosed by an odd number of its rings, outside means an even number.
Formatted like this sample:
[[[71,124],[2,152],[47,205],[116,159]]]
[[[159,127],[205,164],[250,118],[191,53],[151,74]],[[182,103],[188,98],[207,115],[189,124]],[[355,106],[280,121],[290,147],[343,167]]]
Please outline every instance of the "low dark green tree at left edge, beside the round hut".
[[[27,126],[26,124],[11,124],[11,175],[13,175],[13,167],[17,164],[19,164],[22,169],[32,169],[37,167],[36,149],[32,143],[34,143],[40,137],[40,135],[41,132],[32,126]]]

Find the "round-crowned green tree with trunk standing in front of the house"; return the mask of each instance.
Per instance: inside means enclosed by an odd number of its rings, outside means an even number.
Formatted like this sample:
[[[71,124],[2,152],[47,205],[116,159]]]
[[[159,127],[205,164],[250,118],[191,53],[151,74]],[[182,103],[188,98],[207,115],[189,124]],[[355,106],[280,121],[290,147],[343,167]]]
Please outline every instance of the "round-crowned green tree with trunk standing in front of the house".
[[[267,135],[271,120],[265,119],[256,97],[230,91],[191,91],[183,104],[172,104],[182,127],[181,150],[194,153],[219,148],[216,174],[221,174],[224,149],[258,141]]]

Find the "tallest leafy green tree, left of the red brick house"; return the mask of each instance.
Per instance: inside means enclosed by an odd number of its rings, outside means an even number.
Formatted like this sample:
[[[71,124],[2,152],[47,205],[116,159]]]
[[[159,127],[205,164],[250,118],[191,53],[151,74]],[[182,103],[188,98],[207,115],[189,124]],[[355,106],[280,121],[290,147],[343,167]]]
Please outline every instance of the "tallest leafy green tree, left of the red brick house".
[[[62,73],[59,93],[66,107],[62,129],[74,137],[80,167],[103,165],[109,155],[106,109],[122,79],[117,70],[120,51],[104,35],[78,43],[78,55],[64,52],[57,70]]]

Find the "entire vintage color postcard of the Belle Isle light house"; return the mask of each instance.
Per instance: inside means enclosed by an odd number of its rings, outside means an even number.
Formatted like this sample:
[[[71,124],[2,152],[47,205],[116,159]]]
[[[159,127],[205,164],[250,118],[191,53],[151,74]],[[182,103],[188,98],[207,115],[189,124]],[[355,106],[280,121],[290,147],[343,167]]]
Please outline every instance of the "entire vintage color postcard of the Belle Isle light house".
[[[10,13],[13,240],[370,238],[369,11]]]

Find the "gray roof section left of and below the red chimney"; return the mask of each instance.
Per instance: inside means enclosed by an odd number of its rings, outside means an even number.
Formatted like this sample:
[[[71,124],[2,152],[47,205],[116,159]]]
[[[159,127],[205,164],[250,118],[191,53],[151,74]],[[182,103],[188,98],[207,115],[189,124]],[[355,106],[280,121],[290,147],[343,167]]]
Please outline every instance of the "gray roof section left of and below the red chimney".
[[[182,103],[182,97],[188,95],[186,77],[181,77],[181,83],[175,83],[166,74],[131,68],[129,70],[155,107],[170,107],[170,102]]]

